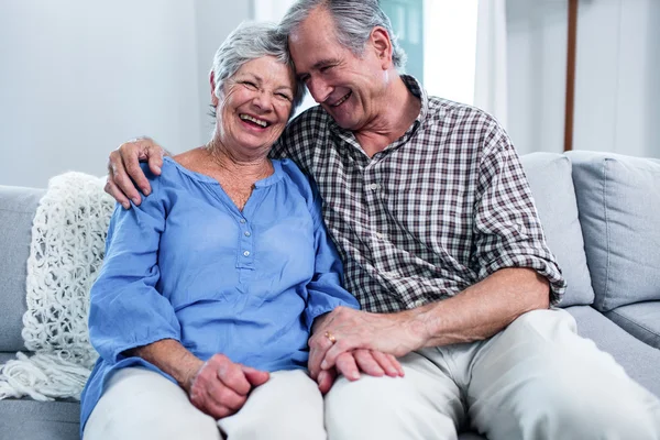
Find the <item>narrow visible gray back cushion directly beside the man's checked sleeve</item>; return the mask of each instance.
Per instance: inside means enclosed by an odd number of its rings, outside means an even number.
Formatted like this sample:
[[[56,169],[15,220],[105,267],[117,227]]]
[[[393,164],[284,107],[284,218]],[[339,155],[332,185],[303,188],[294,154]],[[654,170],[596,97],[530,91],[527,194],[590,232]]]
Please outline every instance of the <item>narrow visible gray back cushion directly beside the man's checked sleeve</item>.
[[[560,307],[590,305],[594,300],[578,205],[566,156],[531,153],[521,157],[548,246],[557,256],[566,292]]]

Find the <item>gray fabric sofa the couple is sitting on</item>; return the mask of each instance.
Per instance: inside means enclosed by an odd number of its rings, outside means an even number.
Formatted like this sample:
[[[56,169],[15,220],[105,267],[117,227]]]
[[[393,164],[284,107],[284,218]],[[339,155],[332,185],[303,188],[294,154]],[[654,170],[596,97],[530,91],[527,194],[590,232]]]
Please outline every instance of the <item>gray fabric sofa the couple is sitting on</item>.
[[[573,152],[534,153],[522,163],[569,282],[561,307],[582,336],[660,396],[660,161]],[[0,364],[24,350],[25,262],[43,194],[0,186]],[[78,411],[76,402],[0,400],[0,438],[76,439]]]

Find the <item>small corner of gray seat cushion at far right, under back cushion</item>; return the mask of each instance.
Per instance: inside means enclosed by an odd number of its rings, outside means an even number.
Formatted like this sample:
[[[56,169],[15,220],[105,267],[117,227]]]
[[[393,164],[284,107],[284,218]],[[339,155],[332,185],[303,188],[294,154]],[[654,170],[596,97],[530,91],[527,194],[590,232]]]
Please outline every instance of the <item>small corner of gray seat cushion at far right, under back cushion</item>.
[[[660,349],[660,301],[617,307],[605,316],[640,341]]]

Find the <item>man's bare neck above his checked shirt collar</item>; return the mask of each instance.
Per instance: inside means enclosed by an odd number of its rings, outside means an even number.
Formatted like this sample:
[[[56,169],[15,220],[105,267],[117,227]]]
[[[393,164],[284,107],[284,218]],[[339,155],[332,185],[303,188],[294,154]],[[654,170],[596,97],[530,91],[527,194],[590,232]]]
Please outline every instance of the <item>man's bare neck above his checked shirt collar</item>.
[[[420,108],[421,100],[414,96],[404,80],[397,76],[393,81],[392,90],[381,103],[382,110],[378,117],[353,134],[364,153],[373,157],[408,131]]]

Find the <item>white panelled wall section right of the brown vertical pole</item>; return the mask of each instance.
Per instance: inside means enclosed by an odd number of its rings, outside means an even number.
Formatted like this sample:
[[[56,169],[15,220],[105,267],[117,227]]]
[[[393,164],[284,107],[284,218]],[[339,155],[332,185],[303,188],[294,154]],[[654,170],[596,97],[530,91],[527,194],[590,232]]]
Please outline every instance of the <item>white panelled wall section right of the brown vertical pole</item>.
[[[660,1],[582,1],[574,145],[660,157]]]

